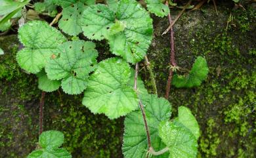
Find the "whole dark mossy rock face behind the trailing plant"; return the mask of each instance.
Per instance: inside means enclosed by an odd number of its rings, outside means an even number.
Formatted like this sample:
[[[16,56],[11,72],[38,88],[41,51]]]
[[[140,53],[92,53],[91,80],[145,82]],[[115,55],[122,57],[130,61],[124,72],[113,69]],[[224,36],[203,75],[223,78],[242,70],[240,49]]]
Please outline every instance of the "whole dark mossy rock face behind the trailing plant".
[[[228,3],[230,4],[230,3]],[[219,3],[185,12],[175,24],[176,62],[190,69],[197,56],[204,56],[209,75],[202,86],[193,89],[171,87],[169,100],[173,114],[188,106],[200,124],[198,157],[256,157],[255,140],[255,9],[232,9]],[[180,10],[172,9],[174,19]],[[227,20],[231,16],[232,21]],[[169,66],[167,18],[154,18],[154,41],[148,58],[154,69],[159,96],[164,95]],[[35,75],[18,67],[15,35],[0,37],[0,157],[26,157],[36,148],[41,91]],[[97,43],[101,56],[110,56],[106,43]],[[101,60],[101,58],[100,58]],[[184,72],[179,72],[184,73]],[[148,71],[140,71],[152,92]],[[123,157],[121,143],[123,118],[110,120],[93,115],[81,104],[82,95],[64,92],[46,94],[44,130],[61,130],[64,146],[79,157]]]

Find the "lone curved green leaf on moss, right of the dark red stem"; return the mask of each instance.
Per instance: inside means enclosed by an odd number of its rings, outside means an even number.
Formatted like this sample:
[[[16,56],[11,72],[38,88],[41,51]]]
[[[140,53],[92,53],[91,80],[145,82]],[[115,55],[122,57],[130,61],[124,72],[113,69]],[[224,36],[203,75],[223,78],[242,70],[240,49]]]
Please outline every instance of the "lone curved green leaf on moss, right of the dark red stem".
[[[199,56],[194,62],[192,69],[188,75],[177,75],[173,76],[172,84],[177,88],[186,87],[197,87],[200,86],[202,81],[207,77],[209,69],[205,58]]]

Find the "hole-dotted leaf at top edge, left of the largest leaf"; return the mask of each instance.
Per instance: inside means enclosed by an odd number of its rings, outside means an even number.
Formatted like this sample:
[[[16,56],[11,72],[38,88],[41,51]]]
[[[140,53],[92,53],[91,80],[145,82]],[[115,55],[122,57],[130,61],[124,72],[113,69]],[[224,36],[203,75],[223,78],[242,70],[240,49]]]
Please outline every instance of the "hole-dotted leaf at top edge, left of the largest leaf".
[[[83,10],[89,5],[94,5],[95,0],[54,0],[57,5],[62,6],[62,18],[58,26],[69,35],[78,35],[82,32],[79,21]]]

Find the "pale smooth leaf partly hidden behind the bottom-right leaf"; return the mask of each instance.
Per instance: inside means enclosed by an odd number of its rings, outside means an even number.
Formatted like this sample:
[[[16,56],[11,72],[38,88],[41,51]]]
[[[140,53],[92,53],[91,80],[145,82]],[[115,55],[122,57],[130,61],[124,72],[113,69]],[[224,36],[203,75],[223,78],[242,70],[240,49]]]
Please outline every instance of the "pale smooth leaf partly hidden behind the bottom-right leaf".
[[[184,125],[184,127],[188,128],[192,134],[196,137],[196,139],[200,136],[200,129],[198,125],[198,121],[196,121],[196,118],[191,113],[190,109],[181,106],[179,107],[179,114],[177,117],[177,121]]]

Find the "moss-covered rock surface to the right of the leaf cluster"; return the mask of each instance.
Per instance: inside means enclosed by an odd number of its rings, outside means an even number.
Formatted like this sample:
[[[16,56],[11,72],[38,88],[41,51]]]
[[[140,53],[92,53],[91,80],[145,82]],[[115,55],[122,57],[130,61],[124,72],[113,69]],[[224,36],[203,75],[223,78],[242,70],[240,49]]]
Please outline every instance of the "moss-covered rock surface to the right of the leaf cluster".
[[[176,61],[190,69],[196,56],[205,56],[207,80],[194,89],[171,87],[169,100],[174,113],[188,106],[200,124],[198,157],[255,157],[255,15],[256,11],[215,10],[188,12],[175,24]],[[226,30],[226,20],[234,16]],[[172,12],[172,15],[179,12]],[[169,34],[161,36],[168,21],[154,19],[155,39],[148,57],[163,96],[169,65]],[[147,71],[144,79],[148,79]],[[182,72],[179,72],[182,73]],[[150,88],[150,87],[149,87]]]

